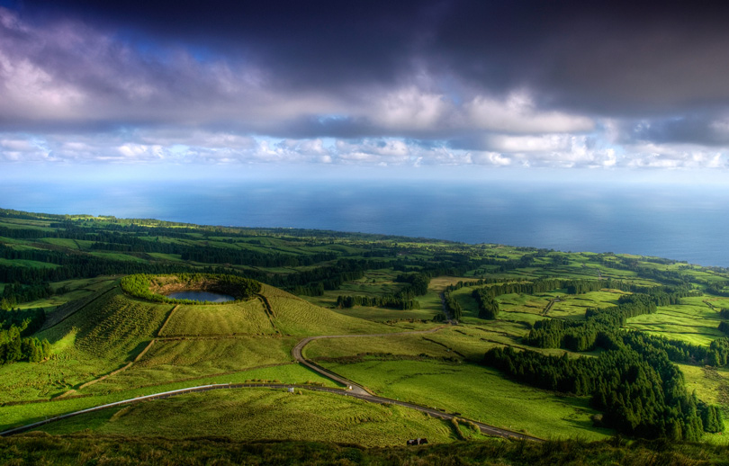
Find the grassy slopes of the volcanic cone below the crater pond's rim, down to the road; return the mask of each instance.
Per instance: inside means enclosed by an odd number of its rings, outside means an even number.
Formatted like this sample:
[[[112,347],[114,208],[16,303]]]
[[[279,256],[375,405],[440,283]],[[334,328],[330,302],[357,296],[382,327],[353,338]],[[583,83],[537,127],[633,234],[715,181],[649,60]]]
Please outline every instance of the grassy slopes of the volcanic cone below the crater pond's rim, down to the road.
[[[133,398],[139,390],[169,390],[175,384],[331,384],[308,369],[291,369],[298,368],[291,351],[300,336],[325,328],[337,333],[392,329],[341,316],[270,286],[253,300],[177,306],[139,300],[116,285],[107,286],[49,314],[36,334],[52,343],[48,361],[0,366],[5,382],[0,402],[14,403],[0,408],[0,425]],[[283,336],[284,332],[297,336]],[[64,396],[68,400],[60,401]],[[24,404],[43,399],[54,401]]]

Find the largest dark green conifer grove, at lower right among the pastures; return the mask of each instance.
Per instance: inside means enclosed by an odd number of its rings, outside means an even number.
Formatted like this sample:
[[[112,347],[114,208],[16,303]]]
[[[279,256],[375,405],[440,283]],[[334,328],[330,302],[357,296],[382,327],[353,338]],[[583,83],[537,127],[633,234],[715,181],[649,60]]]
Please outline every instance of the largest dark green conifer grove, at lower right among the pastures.
[[[494,347],[483,363],[538,388],[589,395],[590,404],[605,413],[602,422],[626,435],[698,440],[705,431],[724,430],[721,409],[688,394],[667,354],[614,343],[598,357],[579,358]]]

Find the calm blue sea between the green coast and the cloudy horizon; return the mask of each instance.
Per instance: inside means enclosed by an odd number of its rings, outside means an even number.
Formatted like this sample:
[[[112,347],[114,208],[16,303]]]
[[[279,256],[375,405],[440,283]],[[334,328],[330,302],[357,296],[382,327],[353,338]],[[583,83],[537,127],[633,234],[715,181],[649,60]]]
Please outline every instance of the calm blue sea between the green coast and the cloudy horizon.
[[[729,189],[240,182],[0,185],[0,207],[433,237],[729,266]]]

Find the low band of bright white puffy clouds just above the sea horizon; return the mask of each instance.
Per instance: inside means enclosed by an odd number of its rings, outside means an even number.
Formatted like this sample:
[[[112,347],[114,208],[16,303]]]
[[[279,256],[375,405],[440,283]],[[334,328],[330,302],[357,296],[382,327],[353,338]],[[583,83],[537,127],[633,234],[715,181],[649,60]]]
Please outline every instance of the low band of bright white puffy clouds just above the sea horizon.
[[[0,160],[118,164],[331,164],[354,166],[523,166],[724,169],[724,149],[642,143],[609,145],[594,136],[500,135],[490,150],[422,145],[399,138],[269,139],[230,132],[137,130],[92,136],[0,133]]]

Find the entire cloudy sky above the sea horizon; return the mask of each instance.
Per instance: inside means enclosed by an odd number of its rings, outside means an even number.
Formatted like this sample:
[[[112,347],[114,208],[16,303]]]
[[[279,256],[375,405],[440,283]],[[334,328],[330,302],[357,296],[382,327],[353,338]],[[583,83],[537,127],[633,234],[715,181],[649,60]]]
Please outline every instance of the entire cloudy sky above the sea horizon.
[[[721,184],[727,18],[726,2],[0,0],[0,171]]]

